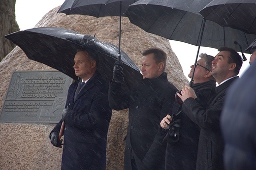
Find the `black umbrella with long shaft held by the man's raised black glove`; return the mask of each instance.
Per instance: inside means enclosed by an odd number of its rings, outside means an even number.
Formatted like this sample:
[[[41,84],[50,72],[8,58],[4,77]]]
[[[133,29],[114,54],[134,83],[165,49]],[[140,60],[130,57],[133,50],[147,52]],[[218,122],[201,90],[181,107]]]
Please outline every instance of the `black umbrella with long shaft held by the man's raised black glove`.
[[[94,17],[119,16],[119,51],[120,61],[121,18],[128,6],[137,0],[65,0],[58,12],[90,15]]]

